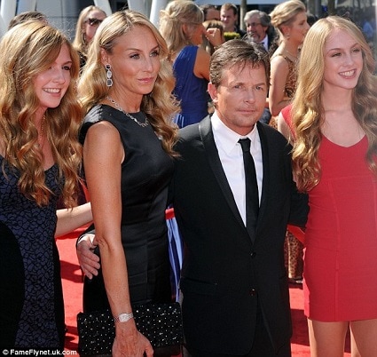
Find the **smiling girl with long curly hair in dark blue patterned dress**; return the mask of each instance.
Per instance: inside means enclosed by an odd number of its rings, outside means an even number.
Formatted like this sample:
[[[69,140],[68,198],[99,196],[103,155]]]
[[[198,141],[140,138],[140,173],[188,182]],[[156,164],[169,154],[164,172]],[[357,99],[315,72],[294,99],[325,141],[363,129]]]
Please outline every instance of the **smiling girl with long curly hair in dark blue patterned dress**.
[[[62,350],[54,236],[91,220],[89,203],[56,212],[79,185],[79,59],[58,29],[28,21],[4,35],[0,68],[0,347]]]

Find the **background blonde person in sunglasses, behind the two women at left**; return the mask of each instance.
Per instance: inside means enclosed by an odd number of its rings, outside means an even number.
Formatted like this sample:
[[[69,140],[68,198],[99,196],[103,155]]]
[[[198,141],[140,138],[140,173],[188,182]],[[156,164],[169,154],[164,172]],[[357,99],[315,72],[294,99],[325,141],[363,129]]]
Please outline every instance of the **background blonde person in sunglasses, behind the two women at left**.
[[[90,5],[80,12],[76,24],[75,40],[73,45],[80,55],[80,67],[86,63],[88,45],[96,34],[100,23],[106,19],[106,12],[98,6]]]

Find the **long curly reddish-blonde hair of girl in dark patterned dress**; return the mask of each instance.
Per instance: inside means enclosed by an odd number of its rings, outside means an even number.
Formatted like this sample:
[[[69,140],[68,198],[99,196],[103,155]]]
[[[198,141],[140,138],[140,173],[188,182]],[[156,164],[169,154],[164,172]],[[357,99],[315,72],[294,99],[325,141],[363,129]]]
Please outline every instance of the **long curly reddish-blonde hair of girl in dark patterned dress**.
[[[33,81],[51,66],[63,45],[67,45],[72,59],[71,83],[59,107],[45,112],[44,130],[59,166],[59,180],[64,179],[63,201],[67,207],[73,207],[82,160],[77,140],[82,120],[75,91],[79,73],[77,52],[58,29],[40,21],[15,26],[0,43],[0,135],[4,159],[20,171],[20,192],[41,206],[48,204],[51,191],[44,182],[42,150],[36,145],[34,117],[40,102]]]

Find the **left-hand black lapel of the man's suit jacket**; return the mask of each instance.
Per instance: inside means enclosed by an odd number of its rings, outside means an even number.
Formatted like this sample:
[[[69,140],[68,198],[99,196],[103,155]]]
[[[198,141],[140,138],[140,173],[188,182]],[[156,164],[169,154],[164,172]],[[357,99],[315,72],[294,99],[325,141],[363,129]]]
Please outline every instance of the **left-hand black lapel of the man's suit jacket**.
[[[220,161],[220,157],[217,152],[217,147],[215,144],[214,135],[211,128],[211,121],[209,115],[204,118],[199,124],[200,139],[205,148],[205,153],[208,156],[208,163],[213,171],[216,180],[221,187],[224,198],[228,202],[229,207],[231,208],[233,215],[237,218],[241,226],[244,226],[242,218],[240,216],[240,211],[237,208],[236,202],[234,201],[234,196],[232,194],[231,186],[229,186],[228,180],[226,178],[223,165]],[[245,227],[246,231],[246,227]]]

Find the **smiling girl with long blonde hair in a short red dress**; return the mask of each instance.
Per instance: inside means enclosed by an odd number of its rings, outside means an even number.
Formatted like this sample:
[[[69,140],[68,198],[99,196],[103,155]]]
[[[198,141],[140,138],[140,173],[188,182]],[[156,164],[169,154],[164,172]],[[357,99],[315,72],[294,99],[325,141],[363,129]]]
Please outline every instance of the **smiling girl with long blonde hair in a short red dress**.
[[[350,20],[318,20],[302,45],[292,106],[294,174],[308,192],[304,312],[311,356],[376,356],[377,81]]]

